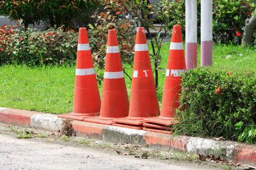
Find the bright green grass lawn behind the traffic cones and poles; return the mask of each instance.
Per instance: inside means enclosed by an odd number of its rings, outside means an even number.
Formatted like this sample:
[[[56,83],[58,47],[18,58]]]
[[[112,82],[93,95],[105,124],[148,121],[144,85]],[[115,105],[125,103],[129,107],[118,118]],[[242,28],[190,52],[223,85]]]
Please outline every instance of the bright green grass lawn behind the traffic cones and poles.
[[[165,43],[161,55],[161,66],[165,68],[169,43]],[[213,46],[213,66],[228,67],[230,71],[256,71],[256,51],[232,45]],[[200,49],[198,49],[200,66]],[[132,74],[132,70],[126,70]],[[0,106],[47,113],[72,111],[75,67],[0,67]],[[164,71],[159,73],[159,103],[164,83]],[[130,94],[131,80],[125,77]],[[101,91],[101,87],[100,91]]]

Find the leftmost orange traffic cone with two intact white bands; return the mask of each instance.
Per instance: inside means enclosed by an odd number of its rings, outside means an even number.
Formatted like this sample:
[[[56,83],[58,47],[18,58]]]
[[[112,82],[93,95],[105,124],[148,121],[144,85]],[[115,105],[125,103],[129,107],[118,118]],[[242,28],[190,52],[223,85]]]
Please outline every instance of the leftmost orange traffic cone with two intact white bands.
[[[59,115],[58,117],[83,120],[84,117],[99,115],[99,111],[100,95],[93,68],[87,30],[86,28],[80,28],[77,46],[73,112]]]

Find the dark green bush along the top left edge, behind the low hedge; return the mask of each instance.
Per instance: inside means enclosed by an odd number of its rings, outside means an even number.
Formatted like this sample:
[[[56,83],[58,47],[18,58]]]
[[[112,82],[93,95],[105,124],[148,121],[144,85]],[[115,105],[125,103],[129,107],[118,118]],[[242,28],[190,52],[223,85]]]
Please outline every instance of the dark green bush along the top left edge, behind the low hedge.
[[[65,25],[74,28],[88,23],[98,4],[98,0],[0,0],[0,14],[12,20],[22,19],[26,28],[40,20],[48,22],[51,27]]]

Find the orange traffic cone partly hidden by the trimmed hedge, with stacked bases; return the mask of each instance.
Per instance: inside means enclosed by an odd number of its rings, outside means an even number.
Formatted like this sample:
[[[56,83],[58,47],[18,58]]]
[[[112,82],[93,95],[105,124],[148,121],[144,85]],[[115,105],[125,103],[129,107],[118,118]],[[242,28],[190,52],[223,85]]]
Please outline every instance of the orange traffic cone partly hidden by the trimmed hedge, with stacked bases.
[[[179,94],[182,78],[180,74],[186,71],[182,33],[180,25],[173,26],[168,65],[164,81],[161,113],[159,117],[145,118],[145,131],[172,133],[172,125],[177,124],[175,110],[179,108]]]

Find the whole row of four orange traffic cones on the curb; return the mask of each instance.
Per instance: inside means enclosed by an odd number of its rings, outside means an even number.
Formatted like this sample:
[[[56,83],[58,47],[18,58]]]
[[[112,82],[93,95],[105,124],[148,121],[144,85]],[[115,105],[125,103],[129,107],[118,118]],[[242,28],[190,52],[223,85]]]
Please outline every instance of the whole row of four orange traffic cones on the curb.
[[[180,25],[173,26],[161,112],[143,27],[137,29],[133,69],[129,104],[116,30],[109,30],[100,103],[87,31],[79,29],[73,113],[59,117],[172,133],[172,125],[178,123],[175,109],[179,107],[180,73],[186,71]]]

